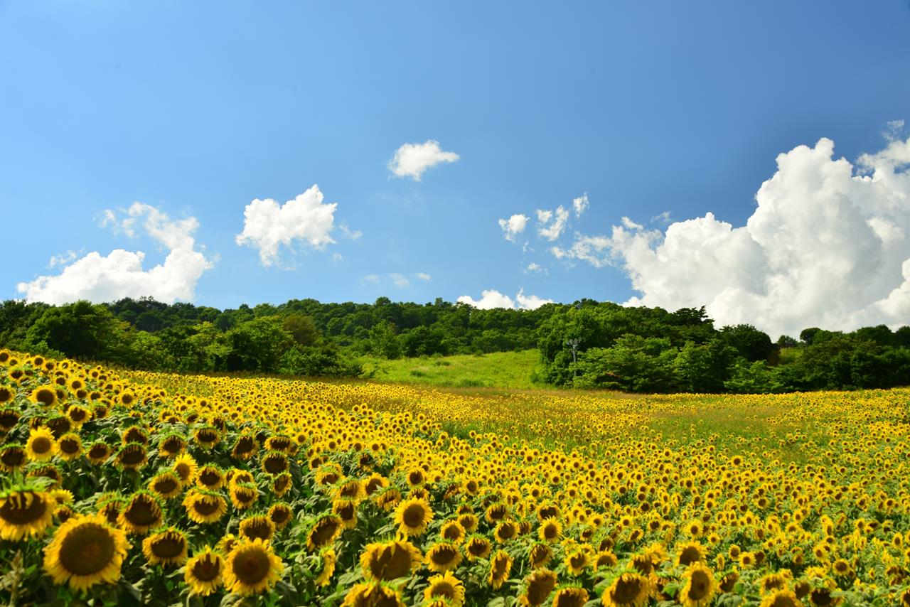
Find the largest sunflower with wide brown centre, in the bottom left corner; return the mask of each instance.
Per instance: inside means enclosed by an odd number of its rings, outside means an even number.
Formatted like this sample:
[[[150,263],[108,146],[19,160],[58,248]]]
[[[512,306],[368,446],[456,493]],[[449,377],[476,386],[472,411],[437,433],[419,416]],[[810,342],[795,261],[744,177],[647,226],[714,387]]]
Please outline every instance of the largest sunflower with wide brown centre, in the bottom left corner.
[[[75,516],[56,530],[45,547],[45,572],[56,584],[86,592],[97,583],[116,583],[126,558],[126,533],[99,515]]]

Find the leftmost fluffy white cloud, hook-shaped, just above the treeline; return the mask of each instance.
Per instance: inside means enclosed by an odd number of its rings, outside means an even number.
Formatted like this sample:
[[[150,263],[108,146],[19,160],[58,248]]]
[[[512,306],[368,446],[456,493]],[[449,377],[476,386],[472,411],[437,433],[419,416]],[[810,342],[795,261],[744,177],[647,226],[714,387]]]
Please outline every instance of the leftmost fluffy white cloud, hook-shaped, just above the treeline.
[[[31,282],[20,282],[16,288],[27,301],[64,304],[76,299],[102,302],[119,298],[156,298],[173,303],[195,298],[196,284],[212,262],[196,250],[196,218],[171,220],[157,207],[135,202],[119,218],[111,210],[103,214],[103,223],[135,235],[141,226],[158,244],[167,248],[163,264],[145,270],[146,254],[122,248],[102,256],[97,251],[82,258],[56,258],[54,265],[63,270],[56,276],[40,276]]]

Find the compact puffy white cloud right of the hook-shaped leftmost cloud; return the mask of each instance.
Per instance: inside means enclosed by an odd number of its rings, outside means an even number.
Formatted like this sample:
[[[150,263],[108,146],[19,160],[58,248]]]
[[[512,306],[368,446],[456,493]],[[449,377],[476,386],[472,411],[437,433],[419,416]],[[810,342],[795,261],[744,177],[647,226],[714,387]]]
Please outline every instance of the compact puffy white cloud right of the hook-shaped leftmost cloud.
[[[335,242],[329,234],[338,204],[322,200],[318,185],[284,205],[271,198],[256,198],[243,211],[243,233],[237,235],[237,244],[258,248],[259,260],[266,267],[278,262],[280,245],[289,248],[295,240],[311,248],[325,248]]]

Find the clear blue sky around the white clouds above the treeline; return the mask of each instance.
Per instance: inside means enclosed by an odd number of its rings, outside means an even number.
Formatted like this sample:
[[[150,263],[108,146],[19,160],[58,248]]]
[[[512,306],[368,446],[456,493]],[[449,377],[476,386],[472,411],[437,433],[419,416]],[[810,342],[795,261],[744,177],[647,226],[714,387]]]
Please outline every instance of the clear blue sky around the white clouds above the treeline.
[[[598,249],[609,263],[552,248],[623,217],[649,233],[708,212],[743,227],[778,154],[827,137],[855,164],[903,141],[908,29],[897,0],[0,3],[15,252],[0,296],[93,251],[163,264],[170,249],[142,228],[154,208],[196,218],[199,304],[641,297],[616,241]],[[458,159],[393,175],[399,147],[430,140]],[[270,266],[238,245],[254,198],[314,184],[337,203],[334,242],[292,238]],[[585,194],[561,239],[537,235],[538,209]],[[148,209],[125,228],[136,201]],[[516,214],[529,220],[511,242],[498,221]]]

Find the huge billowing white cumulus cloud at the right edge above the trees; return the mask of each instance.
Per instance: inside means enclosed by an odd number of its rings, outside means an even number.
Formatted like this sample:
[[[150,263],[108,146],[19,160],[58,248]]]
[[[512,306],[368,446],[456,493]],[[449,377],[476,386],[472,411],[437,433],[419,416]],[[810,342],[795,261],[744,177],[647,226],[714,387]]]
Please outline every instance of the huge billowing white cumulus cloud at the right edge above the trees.
[[[706,305],[718,325],[753,323],[796,335],[807,327],[905,324],[910,315],[910,139],[891,139],[854,167],[834,142],[777,157],[745,226],[712,213],[665,231],[623,219],[608,236],[553,251],[624,268],[641,293],[630,305]]]

